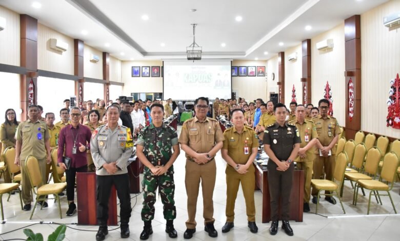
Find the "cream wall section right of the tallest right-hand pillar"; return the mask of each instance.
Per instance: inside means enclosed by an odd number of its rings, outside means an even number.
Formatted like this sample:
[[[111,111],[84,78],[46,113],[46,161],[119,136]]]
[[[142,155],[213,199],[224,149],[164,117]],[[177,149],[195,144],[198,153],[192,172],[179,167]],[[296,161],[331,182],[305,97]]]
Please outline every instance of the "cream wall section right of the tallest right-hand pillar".
[[[386,102],[389,81],[400,74],[400,29],[389,30],[382,19],[399,11],[400,1],[390,1],[361,15],[361,129],[395,138],[400,130],[386,127]]]

